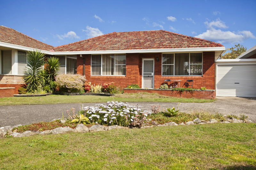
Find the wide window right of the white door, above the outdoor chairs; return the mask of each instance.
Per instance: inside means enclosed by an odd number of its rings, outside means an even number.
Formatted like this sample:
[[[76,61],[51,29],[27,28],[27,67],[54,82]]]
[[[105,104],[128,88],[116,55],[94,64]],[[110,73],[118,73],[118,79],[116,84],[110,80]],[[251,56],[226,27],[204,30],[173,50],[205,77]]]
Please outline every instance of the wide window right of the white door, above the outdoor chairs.
[[[162,76],[202,76],[202,53],[163,54]]]

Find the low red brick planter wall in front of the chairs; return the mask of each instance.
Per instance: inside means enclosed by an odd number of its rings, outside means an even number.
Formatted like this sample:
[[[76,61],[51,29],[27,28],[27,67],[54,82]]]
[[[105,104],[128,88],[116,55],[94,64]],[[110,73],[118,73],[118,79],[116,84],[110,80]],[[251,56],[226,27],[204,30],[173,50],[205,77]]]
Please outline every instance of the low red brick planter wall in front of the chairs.
[[[138,93],[138,92],[148,92],[148,93],[158,93],[165,96],[172,97],[182,97],[182,98],[196,98],[196,99],[215,99],[215,90],[193,90],[180,92],[177,90],[169,89],[124,89],[124,93]]]

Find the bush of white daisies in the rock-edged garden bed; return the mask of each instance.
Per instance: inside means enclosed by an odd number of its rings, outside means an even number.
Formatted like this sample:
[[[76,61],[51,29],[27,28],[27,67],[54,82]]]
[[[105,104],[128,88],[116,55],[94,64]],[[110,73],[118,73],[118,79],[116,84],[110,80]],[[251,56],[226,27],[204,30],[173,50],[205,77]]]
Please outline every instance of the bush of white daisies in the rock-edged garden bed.
[[[140,127],[150,114],[150,112],[140,109],[140,106],[130,106],[128,103],[118,101],[96,106],[98,107],[82,107],[80,114],[84,114],[91,123],[101,125]]]

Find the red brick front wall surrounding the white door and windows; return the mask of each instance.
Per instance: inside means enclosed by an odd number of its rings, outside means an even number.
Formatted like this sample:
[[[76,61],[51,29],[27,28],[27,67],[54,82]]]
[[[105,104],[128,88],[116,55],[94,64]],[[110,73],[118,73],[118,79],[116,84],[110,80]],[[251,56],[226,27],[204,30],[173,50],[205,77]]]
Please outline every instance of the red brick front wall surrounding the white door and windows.
[[[181,80],[180,87],[185,87],[188,79],[193,79],[193,87],[214,89],[214,52],[203,52],[203,76],[161,76],[162,75],[162,54],[161,53],[127,53],[126,54],[126,76],[91,76],[91,55],[83,55],[85,58],[85,77],[92,84],[103,84],[115,82],[116,85],[126,87],[130,84],[138,84],[141,87],[142,59],[155,59],[154,88],[163,85],[164,79]],[[158,56],[159,61],[156,61]],[[83,58],[77,55],[77,74],[83,74]]]

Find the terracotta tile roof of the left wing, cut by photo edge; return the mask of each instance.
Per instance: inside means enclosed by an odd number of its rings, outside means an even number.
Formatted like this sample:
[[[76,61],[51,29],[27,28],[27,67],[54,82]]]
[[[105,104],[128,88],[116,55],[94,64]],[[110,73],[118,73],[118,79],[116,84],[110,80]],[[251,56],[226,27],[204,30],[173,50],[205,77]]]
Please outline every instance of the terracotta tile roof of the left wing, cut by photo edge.
[[[54,48],[51,45],[45,44],[41,41],[37,41],[34,38],[31,38],[23,33],[20,33],[12,28],[8,28],[5,26],[0,26],[0,42],[6,42],[47,51],[52,51],[52,49]]]

